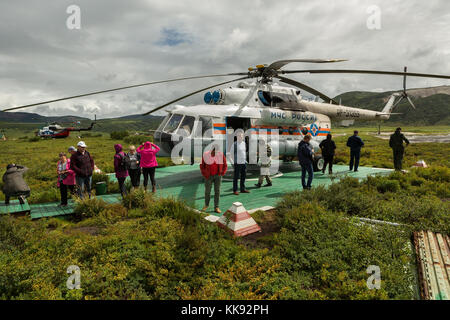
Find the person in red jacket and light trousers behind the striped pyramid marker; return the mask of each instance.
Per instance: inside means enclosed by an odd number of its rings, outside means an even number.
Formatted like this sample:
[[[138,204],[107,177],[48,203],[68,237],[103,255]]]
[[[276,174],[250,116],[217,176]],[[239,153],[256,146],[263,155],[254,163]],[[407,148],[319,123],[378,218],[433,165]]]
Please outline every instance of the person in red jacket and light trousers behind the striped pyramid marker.
[[[211,151],[203,154],[200,171],[205,178],[205,206],[202,211],[206,211],[209,207],[211,186],[214,183],[214,211],[221,213],[222,211],[219,209],[220,184],[222,177],[227,172],[227,159],[217,144],[213,145]]]

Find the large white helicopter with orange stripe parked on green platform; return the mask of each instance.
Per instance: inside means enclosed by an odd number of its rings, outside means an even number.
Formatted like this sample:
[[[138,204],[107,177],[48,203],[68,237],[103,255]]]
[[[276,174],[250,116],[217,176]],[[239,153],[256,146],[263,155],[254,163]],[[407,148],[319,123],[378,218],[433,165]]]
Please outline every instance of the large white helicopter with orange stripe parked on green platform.
[[[392,111],[403,100],[406,99],[415,108],[412,100],[406,92],[406,77],[429,77],[439,79],[450,79],[447,75],[411,73],[404,67],[403,72],[380,71],[380,70],[357,70],[357,69],[282,69],[291,63],[338,63],[348,61],[345,59],[291,59],[279,60],[271,64],[260,64],[248,68],[246,72],[213,74],[184,77],[177,79],[153,81],[126,87],[84,93],[60,99],[54,99],[19,107],[7,108],[3,111],[28,108],[40,104],[52,103],[78,97],[84,97],[105,92],[136,88],[175,81],[186,81],[200,78],[213,78],[225,76],[240,76],[239,78],[216,83],[206,88],[190,92],[182,97],[158,106],[143,115],[149,115],[161,110],[175,102],[185,99],[194,94],[215,87],[240,81],[237,86],[206,92],[204,103],[195,106],[176,106],[167,111],[167,115],[154,131],[154,142],[160,146],[159,156],[179,156],[180,146],[189,149],[184,156],[190,158],[190,163],[198,161],[202,152],[213,143],[219,141],[222,150],[229,150],[235,139],[237,130],[245,132],[247,141],[261,136],[267,139],[272,149],[278,156],[290,161],[297,154],[297,146],[305,135],[311,135],[311,145],[316,152],[314,158],[315,171],[321,170],[323,159],[317,153],[319,143],[331,132],[332,121],[340,120],[387,120],[394,114]],[[403,76],[403,90],[394,92],[388,98],[387,103],[380,111],[366,110],[337,103],[326,94],[304,84],[287,78],[286,74],[373,74],[373,75],[396,75]],[[255,79],[248,82],[245,80]],[[280,81],[283,84],[277,83]],[[289,86],[287,86],[289,85]],[[320,97],[323,102],[309,101],[304,99],[300,90],[312,93]],[[194,152],[191,152],[193,150]],[[181,150],[184,151],[184,150]],[[255,159],[257,150],[249,150],[249,158]],[[182,158],[184,157],[182,156]],[[196,160],[197,158],[197,160]]]

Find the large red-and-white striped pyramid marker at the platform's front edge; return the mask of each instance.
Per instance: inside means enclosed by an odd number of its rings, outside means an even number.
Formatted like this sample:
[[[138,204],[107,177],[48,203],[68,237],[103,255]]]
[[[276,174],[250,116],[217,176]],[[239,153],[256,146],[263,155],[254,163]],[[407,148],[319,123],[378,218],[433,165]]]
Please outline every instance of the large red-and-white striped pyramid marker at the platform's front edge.
[[[235,237],[243,237],[261,231],[259,225],[240,202],[234,202],[216,223]]]

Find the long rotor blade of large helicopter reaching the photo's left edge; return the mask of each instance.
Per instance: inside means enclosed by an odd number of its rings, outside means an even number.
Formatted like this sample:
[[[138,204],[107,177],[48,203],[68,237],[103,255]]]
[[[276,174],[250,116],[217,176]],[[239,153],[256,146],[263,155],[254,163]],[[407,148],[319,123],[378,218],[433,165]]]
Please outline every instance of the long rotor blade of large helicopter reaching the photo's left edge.
[[[38,105],[42,105],[42,104],[47,104],[47,103],[53,103],[53,102],[58,102],[58,101],[64,101],[64,100],[70,100],[70,99],[75,99],[75,98],[87,97],[87,96],[92,96],[92,95],[100,94],[100,93],[106,93],[106,92],[119,91],[119,90],[124,90],[124,89],[131,89],[131,88],[137,88],[137,87],[149,86],[149,85],[153,85],[153,84],[160,84],[160,83],[167,83],[167,82],[175,82],[175,81],[182,81],[182,80],[202,79],[202,78],[214,78],[214,77],[235,76],[235,75],[247,75],[247,73],[239,73],[239,72],[238,72],[238,73],[213,74],[213,75],[193,76],[193,77],[184,77],[184,78],[176,78],[176,79],[169,79],[169,80],[153,81],[153,82],[147,82],[147,83],[135,84],[135,85],[126,86],[126,87],[120,87],[120,88],[114,88],[114,89],[108,89],[108,90],[94,91],[94,92],[89,92],[89,93],[79,94],[79,95],[75,95],[75,96],[64,97],[64,98],[60,98],[60,99],[47,100],[47,101],[43,101],[43,102],[38,102],[38,103],[32,103],[32,104],[27,104],[27,105],[18,106],[18,107],[7,108],[7,109],[4,109],[4,110],[2,110],[2,111],[18,110],[18,109],[34,107],[34,106],[38,106]]]

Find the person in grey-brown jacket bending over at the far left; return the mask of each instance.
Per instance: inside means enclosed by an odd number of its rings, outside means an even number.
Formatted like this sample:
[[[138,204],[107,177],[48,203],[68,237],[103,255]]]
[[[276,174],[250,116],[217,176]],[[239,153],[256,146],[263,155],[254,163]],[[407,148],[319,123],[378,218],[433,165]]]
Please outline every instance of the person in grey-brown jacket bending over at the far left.
[[[19,164],[8,164],[6,172],[3,174],[3,193],[5,194],[5,204],[9,204],[11,197],[17,197],[20,204],[25,204],[25,197],[30,195],[30,187],[23,179],[23,175],[28,168]]]

